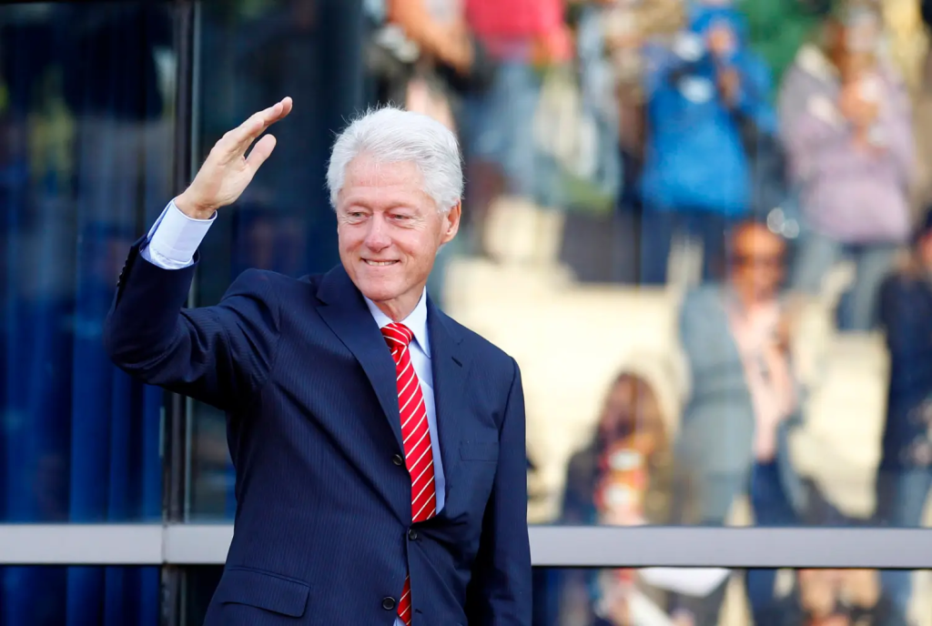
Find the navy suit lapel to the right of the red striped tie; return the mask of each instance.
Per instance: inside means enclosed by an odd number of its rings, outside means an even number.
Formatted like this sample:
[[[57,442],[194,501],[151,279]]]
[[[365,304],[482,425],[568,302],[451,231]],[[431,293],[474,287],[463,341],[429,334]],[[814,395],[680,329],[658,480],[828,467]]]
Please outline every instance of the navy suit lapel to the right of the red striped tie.
[[[462,335],[445,314],[427,301],[428,333],[431,335],[433,370],[433,402],[437,412],[440,456],[444,464],[445,500],[448,503],[451,485],[459,469],[459,442],[462,439],[467,362],[463,354]],[[445,510],[446,510],[445,506]],[[442,513],[441,513],[442,514]]]

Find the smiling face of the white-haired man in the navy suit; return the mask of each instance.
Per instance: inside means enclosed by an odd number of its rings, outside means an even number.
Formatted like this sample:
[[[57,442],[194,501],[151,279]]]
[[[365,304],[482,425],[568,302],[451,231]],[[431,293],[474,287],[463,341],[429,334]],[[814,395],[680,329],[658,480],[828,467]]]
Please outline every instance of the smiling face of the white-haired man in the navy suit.
[[[459,204],[437,210],[414,163],[354,158],[336,202],[340,261],[363,295],[393,320],[418,304],[440,246],[459,229]]]

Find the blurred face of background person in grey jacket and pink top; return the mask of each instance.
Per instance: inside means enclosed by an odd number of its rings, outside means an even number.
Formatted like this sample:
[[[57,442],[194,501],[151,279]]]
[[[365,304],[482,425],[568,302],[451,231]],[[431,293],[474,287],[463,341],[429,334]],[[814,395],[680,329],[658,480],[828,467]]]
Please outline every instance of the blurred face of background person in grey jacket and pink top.
[[[730,277],[739,289],[758,298],[773,297],[783,280],[786,245],[762,225],[739,229],[732,240]]]

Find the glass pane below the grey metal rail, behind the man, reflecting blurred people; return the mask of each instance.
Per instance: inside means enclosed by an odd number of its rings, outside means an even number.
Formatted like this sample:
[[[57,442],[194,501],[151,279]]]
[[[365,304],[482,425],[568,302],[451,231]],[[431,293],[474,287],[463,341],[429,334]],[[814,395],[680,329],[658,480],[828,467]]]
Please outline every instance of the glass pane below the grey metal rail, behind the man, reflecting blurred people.
[[[187,623],[204,618],[221,573],[185,572]],[[904,616],[932,626],[929,572],[534,570],[534,626],[905,626]]]

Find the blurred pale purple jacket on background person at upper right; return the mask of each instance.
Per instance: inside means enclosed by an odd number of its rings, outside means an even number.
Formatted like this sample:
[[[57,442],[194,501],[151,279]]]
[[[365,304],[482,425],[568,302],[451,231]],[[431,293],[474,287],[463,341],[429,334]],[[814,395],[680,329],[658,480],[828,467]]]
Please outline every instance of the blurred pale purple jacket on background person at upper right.
[[[837,106],[839,78],[818,48],[800,49],[780,92],[780,128],[808,225],[844,243],[900,242],[910,232],[910,102],[892,70],[883,67],[880,79],[884,95],[871,133],[885,147],[880,155],[854,146]]]

